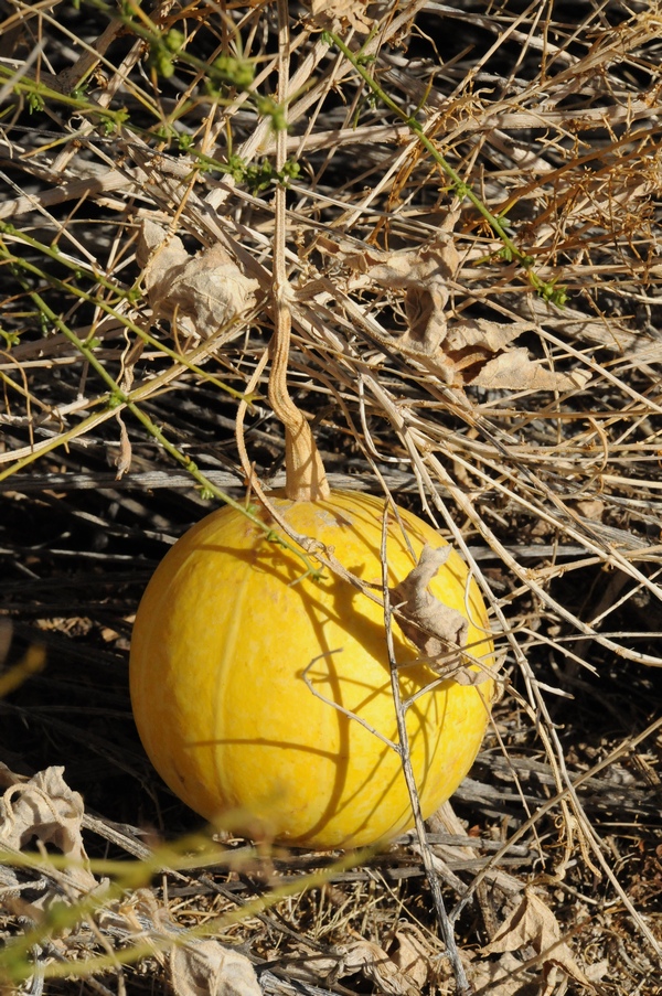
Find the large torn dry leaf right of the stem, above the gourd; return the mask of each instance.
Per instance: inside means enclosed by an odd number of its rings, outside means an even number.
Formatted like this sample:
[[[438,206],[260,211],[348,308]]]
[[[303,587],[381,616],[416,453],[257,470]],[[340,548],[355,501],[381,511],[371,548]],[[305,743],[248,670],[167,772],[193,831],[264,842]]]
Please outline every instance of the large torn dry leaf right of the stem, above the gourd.
[[[416,249],[387,253],[350,250],[321,240],[320,248],[338,256],[361,275],[357,287],[402,291],[407,331],[384,344],[396,344],[419,360],[445,384],[505,390],[572,390],[583,387],[588,374],[567,375],[533,361],[525,347],[512,343],[535,322],[493,322],[487,319],[449,321],[446,308],[460,257],[450,233]]]

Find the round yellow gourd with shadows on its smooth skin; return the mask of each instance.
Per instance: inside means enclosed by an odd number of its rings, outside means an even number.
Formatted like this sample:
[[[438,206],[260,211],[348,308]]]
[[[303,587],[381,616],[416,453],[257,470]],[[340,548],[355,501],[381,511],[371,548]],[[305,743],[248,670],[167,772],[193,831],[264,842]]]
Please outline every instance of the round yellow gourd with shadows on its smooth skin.
[[[273,500],[293,529],[334,547],[350,571],[381,590],[383,501],[355,492]],[[399,515],[416,559],[389,514],[389,587],[415,567],[426,542],[445,545],[416,516]],[[136,724],[168,785],[216,825],[319,849],[387,840],[414,822],[399,757],[319,697],[397,742],[384,611],[328,571],[321,581],[302,574],[301,560],[241,512],[224,507],[193,526],[157,569],[138,610],[130,658]],[[490,665],[484,606],[466,579],[452,551],[429,590],[469,618],[469,653]],[[393,635],[398,664],[413,662],[416,651],[395,620]],[[436,681],[425,664],[399,670],[403,698]],[[407,710],[424,816],[469,771],[492,690],[491,681],[437,681]]]

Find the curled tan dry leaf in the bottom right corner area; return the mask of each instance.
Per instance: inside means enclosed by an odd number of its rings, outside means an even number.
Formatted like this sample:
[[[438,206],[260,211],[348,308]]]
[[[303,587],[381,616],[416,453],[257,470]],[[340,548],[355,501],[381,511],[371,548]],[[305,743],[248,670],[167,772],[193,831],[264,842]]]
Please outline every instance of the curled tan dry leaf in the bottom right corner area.
[[[549,907],[533,889],[526,889],[521,902],[508,917],[501,930],[483,947],[483,954],[503,954],[531,946],[541,955],[545,981],[544,994],[553,992],[549,986],[554,986],[559,970],[575,982],[594,989],[592,983],[575,962],[570,949],[560,938],[560,927]]]

